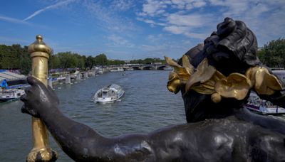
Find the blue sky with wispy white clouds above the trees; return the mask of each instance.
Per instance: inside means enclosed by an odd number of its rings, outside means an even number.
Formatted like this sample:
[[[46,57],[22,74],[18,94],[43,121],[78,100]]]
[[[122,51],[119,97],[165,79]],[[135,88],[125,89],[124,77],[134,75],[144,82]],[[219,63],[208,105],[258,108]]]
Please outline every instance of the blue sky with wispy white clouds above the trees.
[[[0,44],[41,34],[54,53],[180,58],[227,16],[247,23],[259,47],[285,37],[285,0],[1,0]]]

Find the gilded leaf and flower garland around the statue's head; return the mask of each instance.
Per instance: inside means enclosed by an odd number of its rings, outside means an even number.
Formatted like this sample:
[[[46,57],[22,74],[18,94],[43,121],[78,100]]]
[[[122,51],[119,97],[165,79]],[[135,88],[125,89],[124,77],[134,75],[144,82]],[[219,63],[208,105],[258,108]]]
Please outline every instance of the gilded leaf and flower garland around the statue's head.
[[[195,90],[203,95],[212,95],[212,101],[217,103],[222,98],[244,99],[249,90],[254,90],[259,95],[272,95],[281,90],[281,82],[264,67],[249,68],[245,75],[234,72],[225,77],[221,72],[208,64],[207,58],[202,60],[195,69],[187,55],[182,57],[182,66],[172,59],[165,57],[168,65],[174,70],[170,72],[167,88],[170,92],[179,92],[185,85],[185,94]]]

